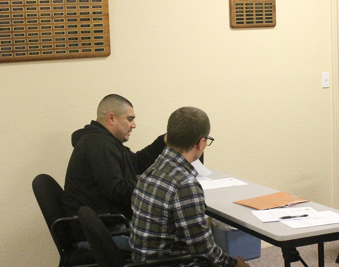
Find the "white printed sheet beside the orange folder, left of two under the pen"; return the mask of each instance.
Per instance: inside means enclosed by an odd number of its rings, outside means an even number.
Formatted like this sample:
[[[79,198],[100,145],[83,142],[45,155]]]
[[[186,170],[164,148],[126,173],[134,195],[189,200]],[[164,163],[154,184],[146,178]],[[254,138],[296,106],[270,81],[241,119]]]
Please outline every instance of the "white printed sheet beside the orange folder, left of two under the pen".
[[[252,210],[252,213],[263,223],[266,222],[284,222],[284,221],[294,221],[294,220],[301,220],[306,219],[310,220],[310,218],[318,217],[317,211],[315,211],[311,207],[301,207],[301,208],[277,208],[277,209],[270,209],[270,210]],[[282,216],[296,216],[308,214],[307,217],[300,217],[300,218],[291,218],[291,219],[280,219]]]

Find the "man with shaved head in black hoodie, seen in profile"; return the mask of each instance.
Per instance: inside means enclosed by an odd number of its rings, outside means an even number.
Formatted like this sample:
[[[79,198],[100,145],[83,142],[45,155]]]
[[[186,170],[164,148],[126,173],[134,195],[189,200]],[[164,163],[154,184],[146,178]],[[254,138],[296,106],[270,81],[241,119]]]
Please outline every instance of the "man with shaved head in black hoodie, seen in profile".
[[[131,102],[116,94],[107,95],[99,103],[96,121],[72,134],[74,150],[63,196],[65,216],[73,216],[81,206],[88,206],[97,214],[132,217],[131,197],[137,174],[154,163],[166,141],[166,135],[161,135],[151,145],[133,153],[123,142],[136,128],[134,118]],[[77,244],[85,240],[78,225],[70,226],[71,237]]]

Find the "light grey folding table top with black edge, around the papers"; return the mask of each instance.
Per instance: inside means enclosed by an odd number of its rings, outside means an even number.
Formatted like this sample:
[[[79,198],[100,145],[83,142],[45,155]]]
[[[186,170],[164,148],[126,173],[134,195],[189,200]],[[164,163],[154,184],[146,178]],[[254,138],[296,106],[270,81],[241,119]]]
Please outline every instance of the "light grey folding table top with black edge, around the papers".
[[[251,212],[252,210],[255,209],[235,204],[233,203],[233,201],[252,198],[256,196],[262,196],[266,194],[275,193],[278,191],[249,182],[244,179],[227,175],[222,172],[214,170],[211,171],[213,173],[207,175],[206,177],[211,179],[222,179],[233,177],[235,179],[247,183],[248,185],[205,190],[204,194],[205,194],[205,203],[207,205],[206,209],[207,215],[210,215],[211,217],[220,216],[221,218],[217,218],[218,220],[222,221],[221,219],[225,219],[224,223],[228,223],[231,226],[239,228],[245,232],[248,232],[256,237],[261,238],[262,240],[268,243],[280,247],[291,245],[301,246],[339,240],[339,224],[330,224],[294,229],[281,222],[268,222],[268,223],[261,222]],[[336,213],[339,213],[339,210],[326,207],[311,201],[296,204],[293,207],[312,207],[316,211],[332,210]]]

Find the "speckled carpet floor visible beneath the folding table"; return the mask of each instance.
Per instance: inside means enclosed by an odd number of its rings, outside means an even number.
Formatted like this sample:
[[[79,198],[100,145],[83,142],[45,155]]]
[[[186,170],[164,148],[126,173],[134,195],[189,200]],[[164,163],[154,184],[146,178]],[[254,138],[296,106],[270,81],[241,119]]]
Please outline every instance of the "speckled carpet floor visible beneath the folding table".
[[[308,267],[318,267],[318,245],[298,247],[301,258]],[[339,240],[324,243],[325,267],[339,267],[335,263],[339,253]],[[281,248],[267,246],[261,249],[261,256],[258,259],[247,261],[251,267],[283,267],[284,259]],[[291,267],[303,267],[302,263],[292,262]]]

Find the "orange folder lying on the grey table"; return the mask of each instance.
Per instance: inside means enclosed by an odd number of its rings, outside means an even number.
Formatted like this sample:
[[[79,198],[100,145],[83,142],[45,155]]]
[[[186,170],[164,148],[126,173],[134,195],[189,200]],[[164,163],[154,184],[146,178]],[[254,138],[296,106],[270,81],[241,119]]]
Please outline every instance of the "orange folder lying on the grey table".
[[[285,192],[277,192],[264,196],[248,198],[233,203],[240,204],[257,210],[267,210],[292,206],[297,203],[307,202],[307,199],[292,196]]]

